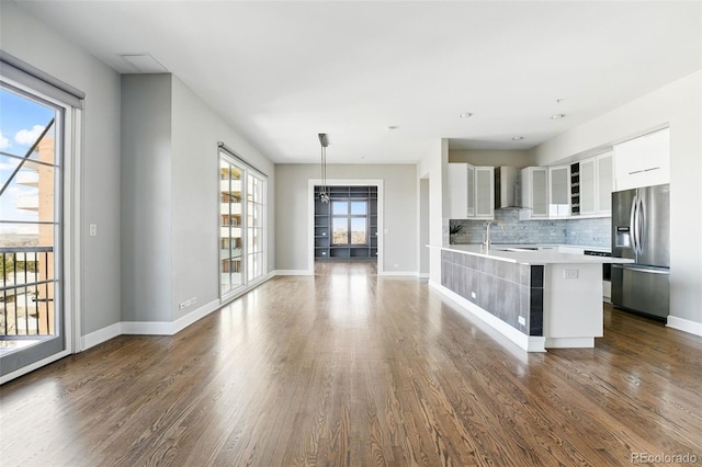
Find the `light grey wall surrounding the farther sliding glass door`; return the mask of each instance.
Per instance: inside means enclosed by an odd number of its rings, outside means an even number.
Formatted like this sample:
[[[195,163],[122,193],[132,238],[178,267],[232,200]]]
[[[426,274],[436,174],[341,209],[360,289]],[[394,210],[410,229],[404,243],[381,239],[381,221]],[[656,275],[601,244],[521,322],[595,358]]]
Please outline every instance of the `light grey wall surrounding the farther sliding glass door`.
[[[219,297],[219,151],[218,141],[268,175],[268,271],[274,269],[275,217],[273,163],[248,144],[178,78],[172,95],[172,297],[176,319],[192,311],[178,304],[197,297],[199,305]]]

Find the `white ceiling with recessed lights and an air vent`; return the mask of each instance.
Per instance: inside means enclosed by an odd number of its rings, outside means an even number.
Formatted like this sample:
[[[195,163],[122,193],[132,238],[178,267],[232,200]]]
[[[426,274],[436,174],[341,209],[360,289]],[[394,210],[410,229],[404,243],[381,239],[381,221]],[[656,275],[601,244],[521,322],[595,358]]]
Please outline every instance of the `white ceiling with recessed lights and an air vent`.
[[[702,68],[699,0],[19,3],[117,71],[151,54],[280,163],[318,133],[329,163],[529,149]]]

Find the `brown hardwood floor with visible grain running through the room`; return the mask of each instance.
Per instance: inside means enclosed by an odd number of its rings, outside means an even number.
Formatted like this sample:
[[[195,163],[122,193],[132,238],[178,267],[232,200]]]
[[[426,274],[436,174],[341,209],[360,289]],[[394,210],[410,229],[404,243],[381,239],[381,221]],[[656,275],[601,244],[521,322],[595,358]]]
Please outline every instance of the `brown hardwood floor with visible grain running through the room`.
[[[702,338],[605,307],[595,349],[526,354],[456,309],[371,263],[275,277],[2,386],[1,464],[702,464]]]

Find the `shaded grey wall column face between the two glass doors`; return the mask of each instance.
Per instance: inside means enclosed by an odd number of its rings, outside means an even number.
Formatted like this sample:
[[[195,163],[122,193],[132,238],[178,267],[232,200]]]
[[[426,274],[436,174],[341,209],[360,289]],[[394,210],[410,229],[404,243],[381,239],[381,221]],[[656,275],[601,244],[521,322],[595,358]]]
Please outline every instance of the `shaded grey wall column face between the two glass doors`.
[[[122,77],[122,321],[171,321],[171,75]]]

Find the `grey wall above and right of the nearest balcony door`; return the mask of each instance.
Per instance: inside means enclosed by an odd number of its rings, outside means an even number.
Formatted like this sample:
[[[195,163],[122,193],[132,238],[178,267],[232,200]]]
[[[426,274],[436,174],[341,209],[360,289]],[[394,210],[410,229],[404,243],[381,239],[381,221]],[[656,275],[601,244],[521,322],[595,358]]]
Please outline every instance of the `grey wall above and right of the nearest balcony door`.
[[[120,76],[13,2],[0,3],[4,52],[86,93],[83,335],[120,321]],[[87,226],[98,224],[98,236]]]

